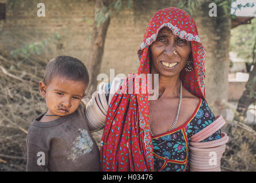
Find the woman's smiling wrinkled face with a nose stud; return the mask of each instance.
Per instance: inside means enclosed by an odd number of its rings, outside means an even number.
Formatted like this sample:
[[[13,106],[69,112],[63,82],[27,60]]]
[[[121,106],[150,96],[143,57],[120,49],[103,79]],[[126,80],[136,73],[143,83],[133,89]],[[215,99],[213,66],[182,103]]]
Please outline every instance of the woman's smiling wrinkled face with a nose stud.
[[[166,77],[179,74],[186,65],[191,52],[190,41],[172,34],[168,27],[163,27],[156,41],[149,47],[151,73],[159,73]],[[177,54],[174,54],[176,51]]]

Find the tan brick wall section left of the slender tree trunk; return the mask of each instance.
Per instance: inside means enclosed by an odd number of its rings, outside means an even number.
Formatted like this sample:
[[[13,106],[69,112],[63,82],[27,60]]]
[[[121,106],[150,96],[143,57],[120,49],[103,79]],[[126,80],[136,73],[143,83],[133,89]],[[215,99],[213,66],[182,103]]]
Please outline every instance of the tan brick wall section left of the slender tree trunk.
[[[93,18],[93,1],[40,1],[45,3],[46,17],[37,17],[37,1],[6,2],[7,19],[0,33],[0,43],[5,43],[6,49],[41,41],[57,32],[64,36],[60,52],[85,60],[91,26],[83,19]]]

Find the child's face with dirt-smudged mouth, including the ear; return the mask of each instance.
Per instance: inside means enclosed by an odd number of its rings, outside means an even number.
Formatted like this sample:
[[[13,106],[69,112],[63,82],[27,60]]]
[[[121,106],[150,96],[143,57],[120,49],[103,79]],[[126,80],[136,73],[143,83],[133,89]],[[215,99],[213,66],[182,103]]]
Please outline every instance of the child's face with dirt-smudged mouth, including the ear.
[[[39,84],[40,94],[46,98],[49,114],[58,116],[66,116],[76,111],[87,87],[82,81],[65,77],[54,77],[47,86],[42,81]]]

